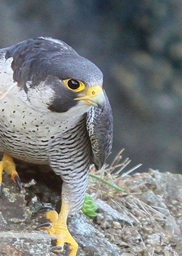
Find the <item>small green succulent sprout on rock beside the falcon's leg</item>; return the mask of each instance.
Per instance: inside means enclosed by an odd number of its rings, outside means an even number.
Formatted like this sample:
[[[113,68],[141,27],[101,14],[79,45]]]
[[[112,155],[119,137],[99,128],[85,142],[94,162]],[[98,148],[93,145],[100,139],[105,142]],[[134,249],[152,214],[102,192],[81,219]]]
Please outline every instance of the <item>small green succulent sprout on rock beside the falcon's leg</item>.
[[[83,213],[90,218],[94,218],[97,216],[96,211],[98,207],[98,204],[94,202],[94,198],[91,195],[86,194],[85,201],[82,207]]]

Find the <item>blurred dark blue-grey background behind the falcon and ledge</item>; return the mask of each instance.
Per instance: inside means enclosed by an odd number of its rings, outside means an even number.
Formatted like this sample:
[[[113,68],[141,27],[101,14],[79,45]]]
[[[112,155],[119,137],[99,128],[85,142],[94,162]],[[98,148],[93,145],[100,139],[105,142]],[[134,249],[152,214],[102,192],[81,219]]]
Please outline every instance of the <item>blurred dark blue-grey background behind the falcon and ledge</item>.
[[[104,74],[114,115],[109,161],[181,170],[181,1],[0,0],[0,48],[40,36],[70,44]]]

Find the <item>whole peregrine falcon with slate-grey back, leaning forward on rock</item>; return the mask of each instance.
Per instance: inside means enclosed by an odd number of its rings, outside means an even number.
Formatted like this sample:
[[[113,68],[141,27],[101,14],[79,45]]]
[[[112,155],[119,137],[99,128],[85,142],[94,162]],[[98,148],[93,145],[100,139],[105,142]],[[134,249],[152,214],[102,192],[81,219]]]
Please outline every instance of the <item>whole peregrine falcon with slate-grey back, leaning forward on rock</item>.
[[[112,147],[113,119],[103,75],[68,44],[34,38],[0,49],[0,188],[2,174],[20,179],[13,158],[48,164],[62,178],[61,211],[47,213],[51,235],[75,256],[67,217],[83,205],[91,164],[102,168]],[[1,190],[0,190],[1,193]]]

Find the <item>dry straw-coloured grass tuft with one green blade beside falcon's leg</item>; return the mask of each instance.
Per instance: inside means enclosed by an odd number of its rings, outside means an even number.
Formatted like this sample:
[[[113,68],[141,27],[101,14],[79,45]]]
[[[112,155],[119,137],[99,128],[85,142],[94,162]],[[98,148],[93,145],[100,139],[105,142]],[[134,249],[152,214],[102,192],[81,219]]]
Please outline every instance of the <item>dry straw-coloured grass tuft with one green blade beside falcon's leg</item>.
[[[110,166],[105,166],[97,172],[93,167],[89,177],[89,193],[95,199],[102,199],[119,212],[132,217],[137,223],[140,223],[141,217],[163,220],[164,214],[140,200],[142,192],[139,188],[144,186],[145,182],[137,183],[137,181],[146,174],[140,173],[139,176],[131,176],[132,172],[137,170],[141,164],[125,170],[131,160],[129,158],[122,159],[123,150],[120,150]],[[127,200],[125,200],[126,196]]]

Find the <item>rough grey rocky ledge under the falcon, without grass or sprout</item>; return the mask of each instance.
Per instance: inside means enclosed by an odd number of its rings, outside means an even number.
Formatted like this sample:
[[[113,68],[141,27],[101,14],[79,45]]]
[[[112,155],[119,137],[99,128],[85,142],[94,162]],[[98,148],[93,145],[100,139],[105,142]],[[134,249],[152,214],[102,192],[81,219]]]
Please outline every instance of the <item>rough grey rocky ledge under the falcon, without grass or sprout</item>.
[[[21,192],[4,173],[3,197],[0,199],[2,256],[55,255],[50,252],[53,242],[47,232],[34,229],[45,221],[44,214],[37,213],[41,207],[51,206],[59,211],[60,186],[53,189],[32,173],[21,172],[20,168]],[[52,174],[48,172],[47,179],[57,180]],[[70,216],[69,229],[79,243],[77,255],[181,255],[181,177],[180,174],[153,170],[126,176],[126,187],[133,188],[133,192],[121,194],[122,210],[97,199],[99,209],[95,219],[82,212]],[[132,193],[140,193],[140,196],[134,197]],[[68,252],[65,246],[62,255],[66,256]]]

